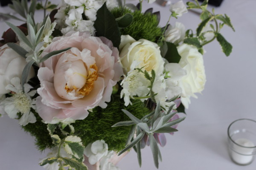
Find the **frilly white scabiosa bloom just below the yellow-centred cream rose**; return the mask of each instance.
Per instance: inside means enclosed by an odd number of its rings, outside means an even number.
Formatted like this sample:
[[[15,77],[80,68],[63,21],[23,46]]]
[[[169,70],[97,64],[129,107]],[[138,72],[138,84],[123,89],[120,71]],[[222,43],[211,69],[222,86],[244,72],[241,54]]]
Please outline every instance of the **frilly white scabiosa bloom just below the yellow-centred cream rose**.
[[[148,94],[150,81],[138,70],[131,70],[120,85],[122,85],[120,96],[122,98],[124,95],[125,106],[128,106],[132,104],[130,98],[133,98],[133,96],[143,97]],[[144,100],[145,99],[141,99],[142,102]]]

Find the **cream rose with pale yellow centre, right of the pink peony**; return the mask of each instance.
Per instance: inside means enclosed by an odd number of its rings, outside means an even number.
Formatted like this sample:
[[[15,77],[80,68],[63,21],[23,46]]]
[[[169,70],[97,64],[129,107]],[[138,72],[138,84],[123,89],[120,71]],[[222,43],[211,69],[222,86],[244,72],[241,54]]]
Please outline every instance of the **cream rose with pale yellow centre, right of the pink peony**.
[[[151,41],[134,40],[131,36],[121,36],[120,61],[126,73],[134,68],[142,70],[154,70],[156,74],[163,73],[164,61],[160,54],[159,46]]]

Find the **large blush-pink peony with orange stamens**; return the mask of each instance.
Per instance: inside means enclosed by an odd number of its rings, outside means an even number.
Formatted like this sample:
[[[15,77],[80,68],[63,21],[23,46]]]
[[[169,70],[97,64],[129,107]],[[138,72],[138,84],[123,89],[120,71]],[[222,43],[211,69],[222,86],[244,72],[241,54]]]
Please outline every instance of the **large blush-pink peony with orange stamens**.
[[[53,39],[44,52],[68,47],[72,48],[47,59],[38,70],[37,111],[47,123],[73,122],[96,106],[106,108],[123,74],[119,52],[105,37],[70,32]]]

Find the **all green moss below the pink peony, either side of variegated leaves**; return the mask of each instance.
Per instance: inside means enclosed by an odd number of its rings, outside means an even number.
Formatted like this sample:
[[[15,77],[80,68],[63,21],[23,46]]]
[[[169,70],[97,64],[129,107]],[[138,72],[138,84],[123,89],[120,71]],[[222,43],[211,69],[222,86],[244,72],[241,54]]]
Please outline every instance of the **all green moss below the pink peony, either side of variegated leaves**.
[[[125,147],[131,126],[111,127],[117,122],[130,120],[121,109],[130,111],[139,119],[149,113],[143,102],[138,101],[125,108],[123,99],[112,99],[107,108],[96,107],[92,113],[89,113],[87,118],[73,123],[75,135],[82,139],[84,146],[90,142],[103,139],[110,150],[122,150]],[[41,121],[42,119],[37,113],[35,113],[35,116],[37,122],[29,123],[23,129],[35,136],[35,144],[39,150],[54,147],[55,145],[52,144],[52,139],[47,130],[47,124]],[[65,137],[59,129],[55,130],[55,134],[61,138]]]

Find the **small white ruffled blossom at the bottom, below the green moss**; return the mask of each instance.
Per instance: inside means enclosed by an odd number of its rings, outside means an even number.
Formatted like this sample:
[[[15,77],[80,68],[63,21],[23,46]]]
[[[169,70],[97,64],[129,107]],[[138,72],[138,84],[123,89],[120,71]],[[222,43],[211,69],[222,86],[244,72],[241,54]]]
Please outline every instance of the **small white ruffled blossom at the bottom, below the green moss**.
[[[108,154],[108,144],[104,140],[97,140],[88,144],[84,149],[84,155],[88,157],[90,164],[96,164],[103,156]]]

